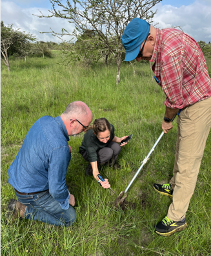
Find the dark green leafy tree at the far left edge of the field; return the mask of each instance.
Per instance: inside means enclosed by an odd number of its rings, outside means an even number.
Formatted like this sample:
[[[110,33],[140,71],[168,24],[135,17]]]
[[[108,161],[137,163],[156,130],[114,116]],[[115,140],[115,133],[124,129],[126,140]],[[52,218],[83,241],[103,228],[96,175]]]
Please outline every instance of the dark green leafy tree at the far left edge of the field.
[[[9,57],[25,57],[30,52],[30,41],[34,41],[32,34],[21,32],[14,26],[5,26],[1,21],[1,59],[10,71]]]

